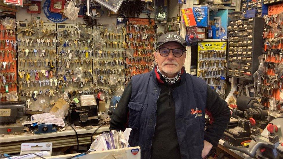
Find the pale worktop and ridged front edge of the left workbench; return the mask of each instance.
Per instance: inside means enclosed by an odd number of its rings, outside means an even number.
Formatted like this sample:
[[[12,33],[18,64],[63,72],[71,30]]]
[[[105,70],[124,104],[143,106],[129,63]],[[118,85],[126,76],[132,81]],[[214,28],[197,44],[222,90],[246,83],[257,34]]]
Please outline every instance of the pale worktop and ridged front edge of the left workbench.
[[[79,137],[79,145],[90,144],[90,136],[98,126],[93,126],[92,129],[84,129],[76,127]],[[77,136],[75,131],[70,126],[65,126],[66,130],[48,134],[38,135],[4,135],[0,137],[0,153],[19,153],[21,143],[25,142],[52,142],[52,148],[77,146]],[[93,138],[102,132],[108,132],[109,125],[100,127],[95,132]]]

